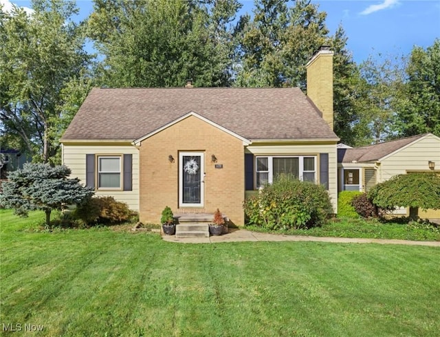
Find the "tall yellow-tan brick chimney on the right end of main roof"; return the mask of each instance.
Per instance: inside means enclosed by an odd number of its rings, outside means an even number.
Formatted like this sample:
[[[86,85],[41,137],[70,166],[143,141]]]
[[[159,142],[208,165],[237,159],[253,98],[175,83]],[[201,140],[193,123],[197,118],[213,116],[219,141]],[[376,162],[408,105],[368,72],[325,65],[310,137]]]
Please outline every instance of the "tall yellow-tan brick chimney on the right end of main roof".
[[[333,130],[333,52],[322,45],[307,63],[307,96]]]

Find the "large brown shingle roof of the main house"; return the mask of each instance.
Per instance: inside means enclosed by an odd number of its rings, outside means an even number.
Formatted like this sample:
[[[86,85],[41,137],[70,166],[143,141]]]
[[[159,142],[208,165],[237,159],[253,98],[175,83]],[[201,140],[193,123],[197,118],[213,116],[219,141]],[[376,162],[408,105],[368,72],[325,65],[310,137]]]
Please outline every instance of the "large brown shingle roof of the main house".
[[[62,140],[135,140],[190,111],[248,140],[338,139],[298,88],[94,88]]]

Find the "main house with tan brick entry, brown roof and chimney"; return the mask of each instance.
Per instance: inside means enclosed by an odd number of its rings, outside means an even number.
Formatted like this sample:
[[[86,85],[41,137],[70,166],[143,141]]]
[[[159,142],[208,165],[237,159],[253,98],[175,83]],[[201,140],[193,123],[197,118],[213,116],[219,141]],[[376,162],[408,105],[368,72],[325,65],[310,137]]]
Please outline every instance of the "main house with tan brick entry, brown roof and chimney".
[[[298,88],[92,89],[61,139],[63,164],[96,195],[157,223],[213,213],[244,224],[243,200],[279,173],[325,185],[337,213],[333,52]]]

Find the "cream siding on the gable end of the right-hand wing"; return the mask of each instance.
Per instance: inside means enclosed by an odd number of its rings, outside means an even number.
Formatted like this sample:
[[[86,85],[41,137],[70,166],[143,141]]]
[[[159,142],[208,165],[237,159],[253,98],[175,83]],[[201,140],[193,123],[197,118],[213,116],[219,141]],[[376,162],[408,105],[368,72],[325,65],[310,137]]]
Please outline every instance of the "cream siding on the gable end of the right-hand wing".
[[[377,182],[384,182],[408,171],[430,171],[428,161],[435,162],[435,170],[440,170],[440,140],[434,135],[421,138],[385,157],[380,164]]]

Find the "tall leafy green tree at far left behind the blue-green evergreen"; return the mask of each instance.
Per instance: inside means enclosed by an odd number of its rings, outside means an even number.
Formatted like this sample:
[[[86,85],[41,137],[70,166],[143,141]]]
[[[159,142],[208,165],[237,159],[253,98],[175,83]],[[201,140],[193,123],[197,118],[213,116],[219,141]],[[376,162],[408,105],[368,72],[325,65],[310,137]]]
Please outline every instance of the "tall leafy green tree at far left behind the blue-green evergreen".
[[[59,149],[65,88],[87,67],[73,1],[34,0],[32,15],[0,9],[1,135],[19,139],[37,160]]]

